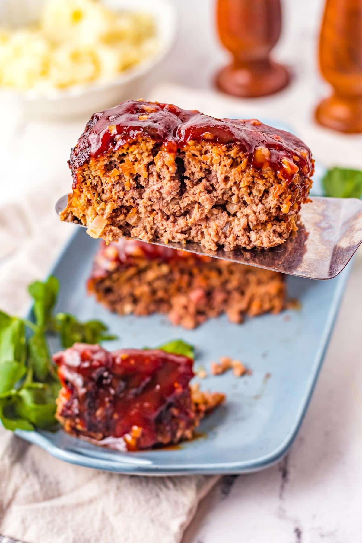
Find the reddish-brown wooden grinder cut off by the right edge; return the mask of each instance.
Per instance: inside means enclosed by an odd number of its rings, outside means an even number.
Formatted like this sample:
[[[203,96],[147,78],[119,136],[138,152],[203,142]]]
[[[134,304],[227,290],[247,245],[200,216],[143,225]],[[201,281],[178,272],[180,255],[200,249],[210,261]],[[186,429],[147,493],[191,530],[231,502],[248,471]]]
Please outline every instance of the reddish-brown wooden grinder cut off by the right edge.
[[[334,92],[317,107],[317,122],[341,132],[362,132],[362,0],[327,0],[319,64]]]

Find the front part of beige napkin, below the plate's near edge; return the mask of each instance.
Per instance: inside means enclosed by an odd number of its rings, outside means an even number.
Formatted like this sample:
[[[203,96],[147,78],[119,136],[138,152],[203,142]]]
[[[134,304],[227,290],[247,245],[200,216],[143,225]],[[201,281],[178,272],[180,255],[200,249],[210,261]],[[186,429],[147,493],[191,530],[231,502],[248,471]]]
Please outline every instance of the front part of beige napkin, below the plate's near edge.
[[[0,430],[0,532],[27,543],[175,543],[214,477],[81,468]]]

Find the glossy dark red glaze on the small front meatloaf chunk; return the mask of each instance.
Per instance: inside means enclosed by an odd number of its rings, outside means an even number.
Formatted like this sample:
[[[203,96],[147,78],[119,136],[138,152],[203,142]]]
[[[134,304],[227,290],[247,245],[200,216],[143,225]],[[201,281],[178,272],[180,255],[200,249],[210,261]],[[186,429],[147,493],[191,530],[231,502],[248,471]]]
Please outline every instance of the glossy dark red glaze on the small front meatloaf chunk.
[[[108,352],[76,343],[53,358],[85,430],[120,438],[142,428],[145,449],[157,441],[157,415],[188,390],[194,376],[192,359],[160,350]]]

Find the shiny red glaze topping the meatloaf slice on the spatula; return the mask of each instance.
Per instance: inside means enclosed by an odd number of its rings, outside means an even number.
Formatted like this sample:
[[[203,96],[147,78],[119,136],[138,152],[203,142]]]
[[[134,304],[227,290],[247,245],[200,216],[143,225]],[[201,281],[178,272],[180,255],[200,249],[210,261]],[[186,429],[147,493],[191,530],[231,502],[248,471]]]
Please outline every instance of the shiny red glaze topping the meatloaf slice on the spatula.
[[[117,150],[139,136],[151,138],[170,153],[182,150],[191,141],[237,144],[253,166],[268,165],[286,181],[292,181],[297,171],[306,176],[313,174],[310,149],[289,132],[256,119],[217,119],[173,104],[128,100],[94,113],[87,123],[69,160],[74,179],[76,169],[92,158]],[[270,151],[268,157],[255,152],[260,147]],[[285,168],[282,159],[294,163],[291,170]]]

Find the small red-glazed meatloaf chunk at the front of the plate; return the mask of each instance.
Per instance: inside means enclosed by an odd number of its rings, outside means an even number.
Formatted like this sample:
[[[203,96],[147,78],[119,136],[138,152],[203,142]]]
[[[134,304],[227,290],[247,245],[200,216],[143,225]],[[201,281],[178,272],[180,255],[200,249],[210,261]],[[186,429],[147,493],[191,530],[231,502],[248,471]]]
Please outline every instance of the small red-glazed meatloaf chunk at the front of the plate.
[[[53,358],[62,384],[56,418],[67,432],[104,444],[113,438],[118,449],[190,439],[209,406],[192,400],[193,361],[186,356],[75,343]],[[214,395],[211,407],[223,400]]]

